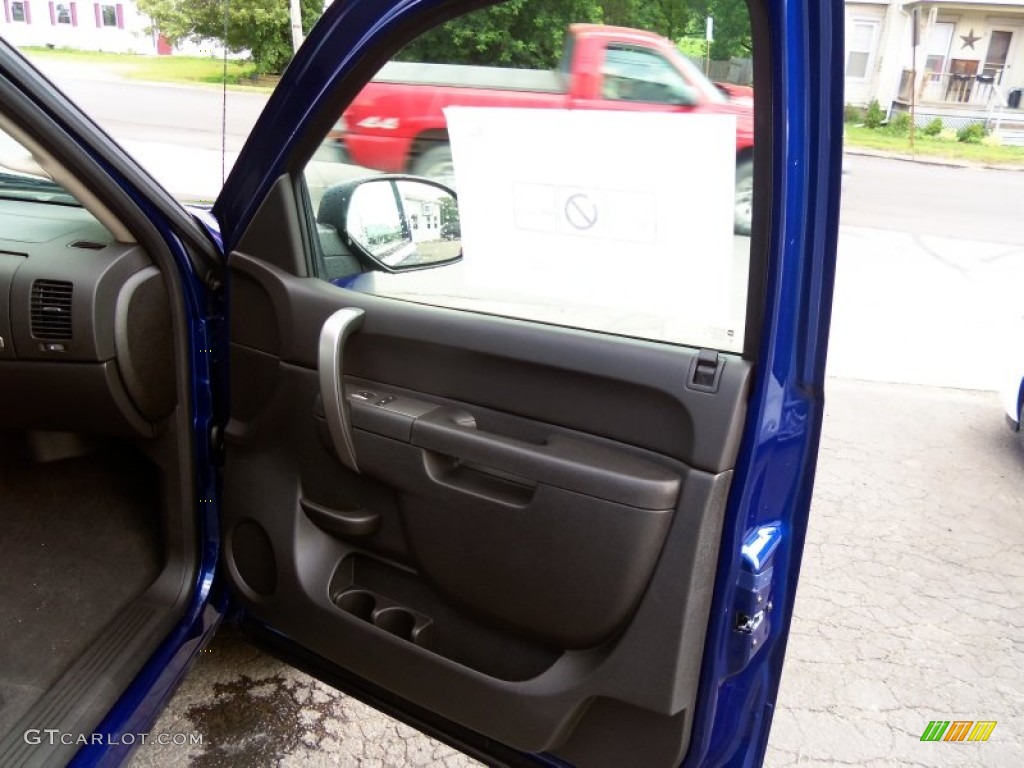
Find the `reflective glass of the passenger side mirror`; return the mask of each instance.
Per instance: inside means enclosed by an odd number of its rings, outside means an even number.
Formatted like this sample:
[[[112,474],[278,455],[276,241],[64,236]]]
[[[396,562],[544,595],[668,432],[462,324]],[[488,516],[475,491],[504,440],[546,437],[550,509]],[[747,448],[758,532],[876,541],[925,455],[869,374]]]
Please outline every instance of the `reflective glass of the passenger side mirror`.
[[[387,271],[440,266],[462,257],[455,193],[426,179],[371,178],[352,189],[345,236]]]

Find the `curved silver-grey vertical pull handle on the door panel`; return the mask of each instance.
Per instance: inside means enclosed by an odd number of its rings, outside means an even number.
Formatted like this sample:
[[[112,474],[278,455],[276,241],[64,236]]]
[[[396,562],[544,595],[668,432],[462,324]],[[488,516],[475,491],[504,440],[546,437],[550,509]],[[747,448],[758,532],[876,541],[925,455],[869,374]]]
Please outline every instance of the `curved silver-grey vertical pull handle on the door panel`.
[[[324,400],[324,417],[327,419],[331,443],[338,459],[353,472],[359,468],[355,464],[355,445],[352,442],[352,426],[348,417],[348,401],[345,399],[345,378],[342,361],[345,356],[345,341],[362,325],[364,310],[346,307],[327,318],[321,329],[317,366],[321,380],[321,397]]]

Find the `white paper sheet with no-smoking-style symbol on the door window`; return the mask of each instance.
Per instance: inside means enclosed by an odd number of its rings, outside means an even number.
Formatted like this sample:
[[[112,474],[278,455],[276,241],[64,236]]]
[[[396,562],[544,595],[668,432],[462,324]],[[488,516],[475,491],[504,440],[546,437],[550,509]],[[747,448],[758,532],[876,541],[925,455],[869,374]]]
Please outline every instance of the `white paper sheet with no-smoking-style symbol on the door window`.
[[[733,116],[444,114],[469,285],[727,327]]]

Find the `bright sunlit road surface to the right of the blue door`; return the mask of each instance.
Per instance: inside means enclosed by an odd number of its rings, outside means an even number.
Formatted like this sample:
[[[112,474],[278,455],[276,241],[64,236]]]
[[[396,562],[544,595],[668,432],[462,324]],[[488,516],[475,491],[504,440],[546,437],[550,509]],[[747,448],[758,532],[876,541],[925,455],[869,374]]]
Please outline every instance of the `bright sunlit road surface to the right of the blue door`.
[[[1024,172],[846,165],[829,374],[1000,388],[1024,366]]]

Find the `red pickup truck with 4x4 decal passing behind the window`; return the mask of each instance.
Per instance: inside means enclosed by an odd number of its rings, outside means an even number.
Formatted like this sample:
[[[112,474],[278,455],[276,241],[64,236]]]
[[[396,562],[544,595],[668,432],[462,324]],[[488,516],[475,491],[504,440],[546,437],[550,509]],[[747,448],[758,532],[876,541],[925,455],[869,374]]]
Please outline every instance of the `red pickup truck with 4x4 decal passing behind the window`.
[[[443,178],[453,172],[443,110],[454,105],[735,115],[735,228],[750,232],[753,100],[716,87],[659,35],[572,25],[556,71],[392,61],[355,97],[332,136],[349,162]]]

